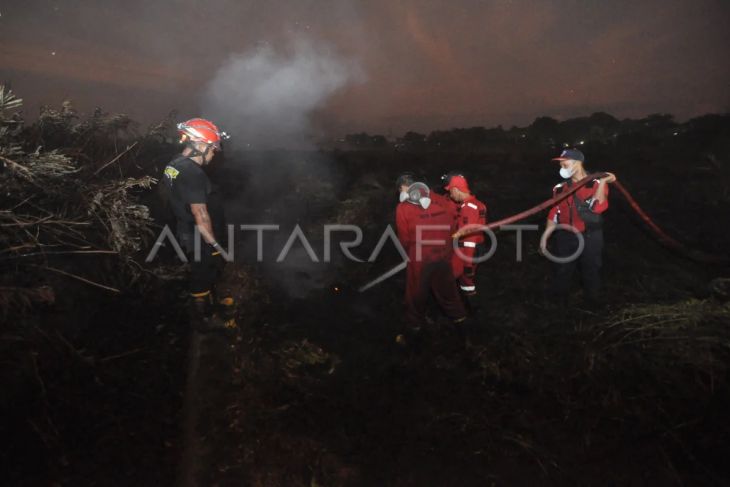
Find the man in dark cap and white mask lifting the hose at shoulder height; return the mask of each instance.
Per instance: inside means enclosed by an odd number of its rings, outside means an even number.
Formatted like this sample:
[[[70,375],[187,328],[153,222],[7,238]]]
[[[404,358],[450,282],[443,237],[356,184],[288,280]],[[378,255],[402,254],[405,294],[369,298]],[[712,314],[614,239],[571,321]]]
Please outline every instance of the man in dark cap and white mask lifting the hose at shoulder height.
[[[553,188],[556,196],[574,183],[586,177],[583,168],[585,156],[576,149],[567,149],[553,159],[560,162],[560,176],[565,180]],[[580,188],[573,196],[564,199],[550,209],[545,231],[540,238],[540,253],[550,255],[555,262],[555,273],[549,289],[549,297],[555,304],[567,303],[570,283],[576,265],[580,264],[583,288],[589,303],[600,300],[601,264],[603,253],[603,218],[608,209],[608,184],[616,180],[611,173]],[[580,250],[579,238],[584,248]],[[551,251],[548,240],[552,237]],[[561,262],[556,262],[557,257]]]

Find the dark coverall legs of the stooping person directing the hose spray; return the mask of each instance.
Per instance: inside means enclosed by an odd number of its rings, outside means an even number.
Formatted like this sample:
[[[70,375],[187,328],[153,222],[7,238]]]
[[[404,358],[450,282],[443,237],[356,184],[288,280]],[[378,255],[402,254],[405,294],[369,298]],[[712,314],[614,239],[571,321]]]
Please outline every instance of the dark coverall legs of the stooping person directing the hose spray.
[[[426,321],[426,304],[433,292],[446,315],[453,319],[466,316],[464,303],[456,288],[451,262],[409,262],[406,281],[406,320],[412,327]]]

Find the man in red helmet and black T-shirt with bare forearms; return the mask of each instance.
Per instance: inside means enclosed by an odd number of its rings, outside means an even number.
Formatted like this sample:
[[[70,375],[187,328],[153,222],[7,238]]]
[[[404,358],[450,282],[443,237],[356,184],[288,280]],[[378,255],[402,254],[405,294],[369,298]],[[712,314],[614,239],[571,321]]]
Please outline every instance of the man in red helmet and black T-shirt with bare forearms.
[[[210,318],[214,286],[225,261],[218,238],[225,236],[223,205],[204,166],[210,164],[228,136],[209,120],[193,118],[177,126],[183,151],[164,170],[177,237],[190,262],[193,319]],[[196,229],[202,239],[196,252]],[[223,304],[229,303],[225,298]]]

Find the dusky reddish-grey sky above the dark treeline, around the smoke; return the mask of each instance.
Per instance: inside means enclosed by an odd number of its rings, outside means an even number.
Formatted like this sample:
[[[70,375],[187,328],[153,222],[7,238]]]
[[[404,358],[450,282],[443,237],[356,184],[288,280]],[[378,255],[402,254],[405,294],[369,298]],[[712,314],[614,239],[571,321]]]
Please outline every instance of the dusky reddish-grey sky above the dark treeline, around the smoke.
[[[730,111],[726,0],[2,0],[0,14],[0,80],[31,114],[67,97],[192,114],[231,55],[292,38],[364,72],[318,114],[335,133]]]

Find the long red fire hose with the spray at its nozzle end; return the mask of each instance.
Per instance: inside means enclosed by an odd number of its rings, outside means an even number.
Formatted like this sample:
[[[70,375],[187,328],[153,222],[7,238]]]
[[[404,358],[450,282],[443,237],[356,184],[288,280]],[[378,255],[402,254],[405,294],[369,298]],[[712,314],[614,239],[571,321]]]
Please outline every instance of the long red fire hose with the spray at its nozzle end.
[[[557,196],[554,196],[548,200],[543,201],[539,205],[533,206],[530,209],[527,209],[525,211],[522,211],[520,213],[514,214],[512,216],[509,216],[507,218],[503,218],[501,220],[498,220],[496,222],[488,223],[486,225],[473,225],[472,231],[469,231],[469,226],[464,227],[460,234],[461,236],[468,235],[470,233],[477,233],[477,232],[484,232],[488,230],[498,230],[500,227],[503,227],[505,225],[510,225],[512,223],[518,222],[520,220],[524,220],[525,218],[529,218],[532,215],[539,213],[543,210],[546,210],[547,208],[551,208],[561,201],[570,198],[573,196],[573,194],[578,191],[580,188],[585,186],[586,184],[590,183],[591,181],[595,179],[600,179],[604,176],[607,176],[606,173],[595,173],[595,174],[589,174],[588,176],[584,177],[577,183],[571,185],[567,191],[563,191]],[[636,202],[636,200],[631,196],[631,194],[628,192],[628,190],[619,182],[614,181],[611,183],[623,196],[626,198],[626,201],[629,203],[631,208],[639,215],[641,220],[646,223],[646,225],[656,234],[656,236],[659,238],[659,242],[661,242],[666,247],[679,252],[680,254],[684,255],[685,257],[694,260],[696,262],[701,263],[709,263],[709,264],[728,264],[730,263],[730,258],[728,256],[720,256],[720,255],[713,255],[708,254],[705,252],[701,252],[698,250],[690,249],[683,243],[679,242],[678,240],[674,239],[673,237],[667,235],[659,226],[654,223],[654,221],[649,217],[649,215],[646,214],[646,212],[639,206],[639,204]],[[403,269],[407,267],[407,262],[401,262],[397,266],[393,267],[389,271],[385,272],[378,278],[370,281],[369,283],[365,284],[364,286],[360,287],[359,291],[364,292],[370,289],[371,287],[383,282],[384,280],[394,276],[395,274],[399,273]]]

